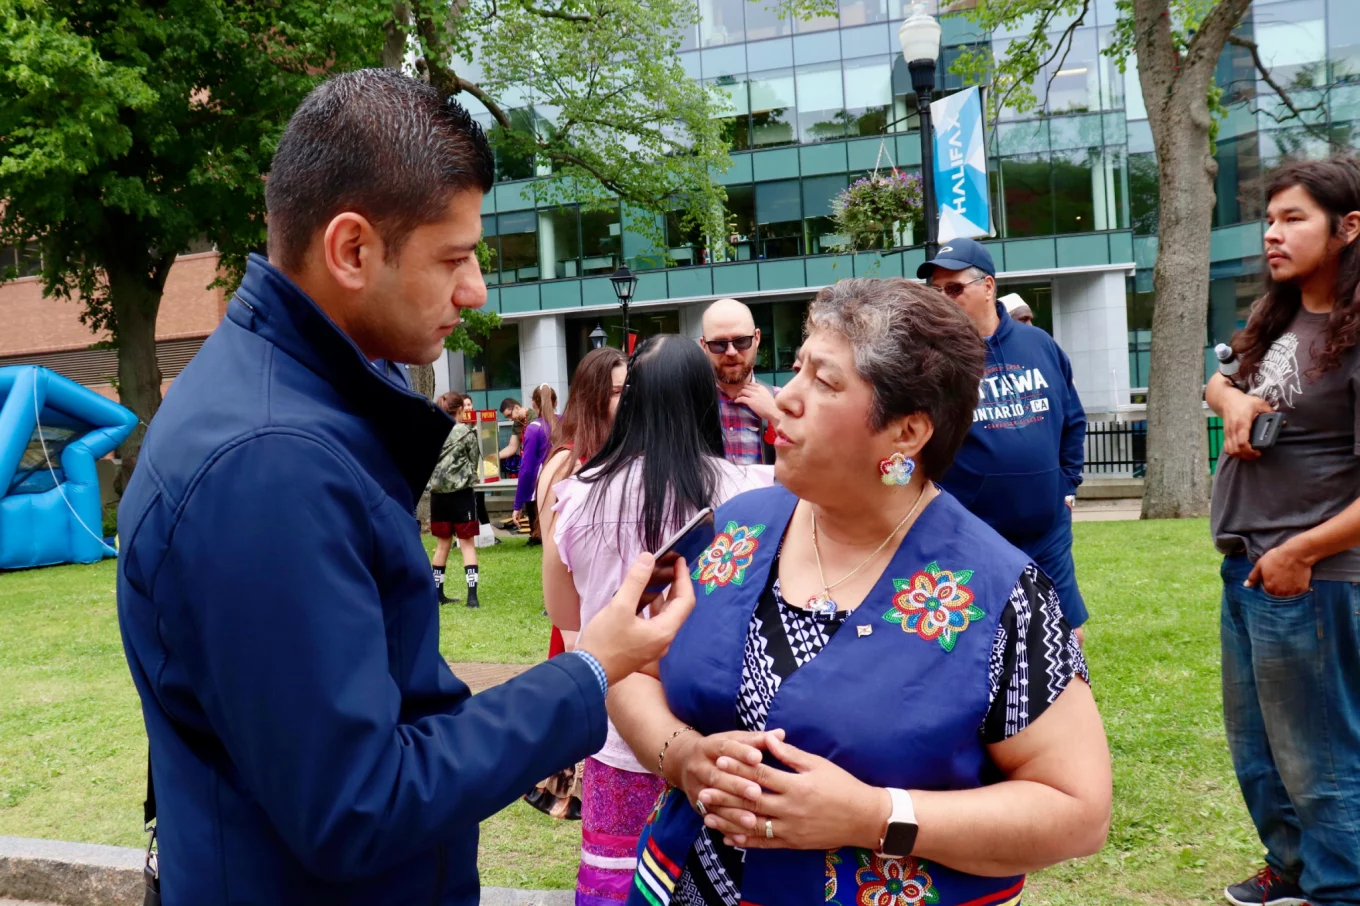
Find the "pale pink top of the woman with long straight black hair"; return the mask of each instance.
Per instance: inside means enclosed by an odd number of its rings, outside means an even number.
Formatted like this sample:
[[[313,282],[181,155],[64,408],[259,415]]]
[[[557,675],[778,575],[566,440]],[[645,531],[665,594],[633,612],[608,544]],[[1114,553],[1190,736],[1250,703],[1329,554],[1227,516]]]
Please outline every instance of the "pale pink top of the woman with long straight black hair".
[[[718,467],[718,488],[713,506],[760,487],[774,484],[772,465],[733,465],[726,460],[714,460]],[[602,494],[593,501],[592,491]],[[623,584],[632,560],[642,554],[642,522],[634,516],[627,524],[616,518],[600,518],[642,510],[642,467],[634,464],[626,472],[616,475],[602,490],[586,484],[579,477],[568,477],[554,486],[558,503],[552,510],[558,514],[552,537],[558,543],[558,554],[571,573],[571,582],[581,597],[581,628],[598,614]],[[684,522],[668,526],[675,532]],[[622,550],[620,550],[622,548]],[[611,767],[626,771],[646,771],[632,750],[623,741],[613,722],[609,736],[596,759]]]

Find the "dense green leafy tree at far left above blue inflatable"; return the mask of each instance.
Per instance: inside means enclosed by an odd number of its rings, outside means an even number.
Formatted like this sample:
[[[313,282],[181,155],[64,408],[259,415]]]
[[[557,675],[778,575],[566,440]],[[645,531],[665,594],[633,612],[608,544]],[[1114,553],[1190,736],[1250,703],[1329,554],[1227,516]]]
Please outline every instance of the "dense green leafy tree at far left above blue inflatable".
[[[0,0],[0,242],[35,241],[45,292],[109,332],[143,422],[175,256],[207,238],[230,273],[264,248],[288,116],[326,68],[378,61],[385,18],[329,0]]]

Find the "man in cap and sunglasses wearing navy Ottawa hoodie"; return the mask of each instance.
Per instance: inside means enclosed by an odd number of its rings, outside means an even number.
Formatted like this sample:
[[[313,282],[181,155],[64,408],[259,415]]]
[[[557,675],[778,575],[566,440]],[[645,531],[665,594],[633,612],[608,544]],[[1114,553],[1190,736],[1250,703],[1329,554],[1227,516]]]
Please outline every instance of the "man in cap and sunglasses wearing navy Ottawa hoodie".
[[[945,244],[917,276],[957,302],[987,341],[972,429],[940,484],[1034,558],[1083,638],[1087,605],[1072,565],[1072,502],[1087,414],[1072,363],[1051,336],[1012,320],[997,302],[997,268],[981,242]]]

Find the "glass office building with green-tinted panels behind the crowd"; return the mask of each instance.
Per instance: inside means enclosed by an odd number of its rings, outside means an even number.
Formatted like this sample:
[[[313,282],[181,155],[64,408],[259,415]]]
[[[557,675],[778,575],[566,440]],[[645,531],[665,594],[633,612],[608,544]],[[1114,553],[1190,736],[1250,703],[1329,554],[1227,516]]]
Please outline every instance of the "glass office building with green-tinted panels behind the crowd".
[[[838,15],[805,22],[778,18],[762,0],[698,3],[702,22],[684,35],[681,58],[690,75],[726,95],[719,113],[733,166],[721,181],[730,252],[713,254],[703,237],[665,218],[666,267],[636,230],[651,215],[539,207],[536,162],[498,159],[483,224],[496,250],[487,306],[505,325],[480,355],[447,356],[437,369],[441,389],[471,390],[487,407],[526,399],[543,382],[560,395],[597,325],[620,344],[608,282],[619,264],[638,272],[631,326],[643,337],[698,336],[703,307],[717,298],[751,305],[764,337],[759,375],[772,384],[790,377],[819,287],[846,276],[915,273],[919,245],[836,254],[830,220],[835,195],[876,165],[919,169],[915,97],[896,38],[910,4],[839,0]],[[1310,109],[1310,125],[1344,140],[1360,121],[1356,12],[1355,0],[1255,0],[1240,27],[1297,106]],[[1157,165],[1136,61],[1121,72],[1100,54],[1114,22],[1114,0],[1092,0],[1061,68],[1035,80],[1043,114],[1004,112],[989,132],[997,231],[990,249],[1001,291],[1020,292],[1068,351],[1096,416],[1141,408],[1156,303]],[[990,46],[1004,54],[1015,37],[979,34],[956,15],[941,24],[942,93],[964,87],[948,72],[960,53]],[[1287,155],[1326,152],[1297,122],[1277,121],[1278,105],[1246,50],[1224,52],[1219,82],[1231,116],[1217,140],[1206,348],[1244,322],[1261,292],[1262,175]],[[525,124],[537,116],[529,102],[514,114]]]

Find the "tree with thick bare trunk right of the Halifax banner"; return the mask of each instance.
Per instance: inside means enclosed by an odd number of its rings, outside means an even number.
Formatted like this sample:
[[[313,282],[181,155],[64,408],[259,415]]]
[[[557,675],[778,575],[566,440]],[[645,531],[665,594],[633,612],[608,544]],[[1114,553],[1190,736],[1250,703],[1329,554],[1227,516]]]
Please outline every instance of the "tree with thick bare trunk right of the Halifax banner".
[[[1156,150],[1157,265],[1148,380],[1146,518],[1202,516],[1209,507],[1209,452],[1204,422],[1204,340],[1209,307],[1209,238],[1219,163],[1213,139],[1223,107],[1214,69],[1225,46],[1250,53],[1277,120],[1292,120],[1323,147],[1338,136],[1312,127],[1321,99],[1300,107],[1239,34],[1251,0],[1115,0],[1119,12],[1108,53],[1121,69],[1137,57],[1142,99]],[[993,117],[1002,109],[1039,112],[1036,87],[1058,72],[1091,0],[989,0],[967,10],[987,31],[1020,34],[1000,58],[966,54],[955,72],[989,80]],[[1255,94],[1254,91],[1251,93]],[[1257,103],[1255,98],[1251,101]],[[1145,184],[1151,174],[1142,174]]]

